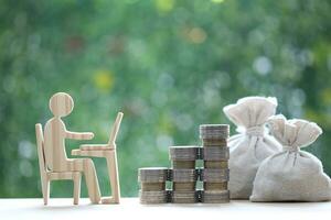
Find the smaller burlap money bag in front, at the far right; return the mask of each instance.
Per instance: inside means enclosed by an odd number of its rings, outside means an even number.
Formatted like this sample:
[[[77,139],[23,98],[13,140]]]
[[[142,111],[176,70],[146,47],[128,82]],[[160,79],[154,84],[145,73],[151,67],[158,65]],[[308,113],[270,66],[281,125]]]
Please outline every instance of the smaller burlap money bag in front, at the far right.
[[[270,131],[282,144],[282,152],[266,158],[259,166],[250,196],[252,201],[322,201],[331,199],[331,182],[321,162],[301,151],[322,133],[312,122],[268,120]]]

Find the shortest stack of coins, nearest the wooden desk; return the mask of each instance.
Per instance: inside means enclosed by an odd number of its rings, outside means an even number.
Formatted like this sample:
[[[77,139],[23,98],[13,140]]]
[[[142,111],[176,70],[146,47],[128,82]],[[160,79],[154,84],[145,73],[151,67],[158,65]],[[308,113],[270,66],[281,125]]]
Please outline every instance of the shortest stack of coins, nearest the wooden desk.
[[[139,168],[140,204],[166,204],[168,201],[166,182],[169,179],[169,173],[167,167]]]

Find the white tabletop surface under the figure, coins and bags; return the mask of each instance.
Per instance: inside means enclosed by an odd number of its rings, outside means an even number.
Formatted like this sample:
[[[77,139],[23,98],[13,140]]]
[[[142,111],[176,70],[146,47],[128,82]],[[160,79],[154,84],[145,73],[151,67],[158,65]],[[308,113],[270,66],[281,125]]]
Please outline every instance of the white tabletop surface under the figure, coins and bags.
[[[269,202],[255,204],[232,200],[222,205],[153,205],[143,206],[138,198],[122,198],[120,205],[90,205],[88,199],[81,199],[78,206],[73,199],[51,198],[47,206],[42,199],[0,199],[0,219],[331,219],[329,202]],[[185,219],[183,219],[185,218]]]

